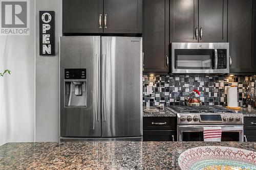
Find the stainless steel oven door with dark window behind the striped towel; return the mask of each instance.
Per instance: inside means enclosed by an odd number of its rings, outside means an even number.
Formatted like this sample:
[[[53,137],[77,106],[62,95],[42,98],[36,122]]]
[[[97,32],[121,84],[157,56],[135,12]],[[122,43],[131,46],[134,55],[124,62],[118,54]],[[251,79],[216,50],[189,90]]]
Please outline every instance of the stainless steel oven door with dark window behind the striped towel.
[[[243,141],[243,125],[178,125],[178,141],[204,141],[204,127],[221,127],[221,141]]]

